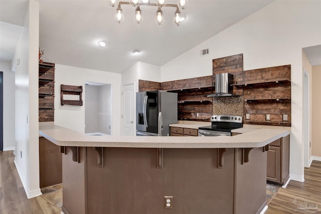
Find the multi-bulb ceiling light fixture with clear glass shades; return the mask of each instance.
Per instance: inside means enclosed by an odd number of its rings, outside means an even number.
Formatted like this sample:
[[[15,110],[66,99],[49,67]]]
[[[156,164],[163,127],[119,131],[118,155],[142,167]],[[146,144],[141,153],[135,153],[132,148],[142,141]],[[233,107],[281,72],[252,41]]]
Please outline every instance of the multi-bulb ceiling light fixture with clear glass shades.
[[[155,18],[155,23],[158,25],[162,25],[164,23],[164,16],[163,16],[163,11],[162,7],[175,7],[176,12],[174,15],[174,24],[179,26],[181,23],[186,19],[182,19],[183,17],[181,16],[181,10],[184,10],[188,7],[188,0],[178,0],[177,5],[167,5],[166,0],[155,0],[155,3],[150,3],[149,0],[129,0],[129,2],[119,2],[119,0],[107,0],[108,5],[111,7],[116,7],[116,15],[115,15],[115,20],[118,23],[121,23],[124,21],[124,16],[122,13],[121,5],[131,5],[136,7],[135,10],[135,16],[134,16],[134,21],[139,24],[143,21],[143,17],[141,14],[140,6],[156,6],[158,9],[156,11],[156,18]]]

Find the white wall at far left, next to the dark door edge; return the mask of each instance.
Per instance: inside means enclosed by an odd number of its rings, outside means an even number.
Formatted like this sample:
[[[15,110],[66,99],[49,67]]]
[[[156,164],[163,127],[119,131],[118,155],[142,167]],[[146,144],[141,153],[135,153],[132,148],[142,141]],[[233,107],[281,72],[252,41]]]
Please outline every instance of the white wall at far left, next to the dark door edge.
[[[15,72],[7,61],[0,61],[0,71],[4,72],[4,151],[15,150]]]

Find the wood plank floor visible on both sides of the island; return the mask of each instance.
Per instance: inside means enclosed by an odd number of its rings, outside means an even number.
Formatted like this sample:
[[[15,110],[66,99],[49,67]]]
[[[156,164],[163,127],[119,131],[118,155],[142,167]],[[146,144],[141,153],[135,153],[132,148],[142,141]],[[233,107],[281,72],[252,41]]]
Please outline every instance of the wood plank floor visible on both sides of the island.
[[[0,213],[59,214],[62,206],[61,185],[44,188],[43,195],[27,199],[14,159],[13,151],[0,151]],[[321,161],[313,160],[310,168],[304,169],[304,178],[303,183],[291,180],[285,189],[280,188],[268,203],[265,214],[321,213]],[[267,201],[269,199],[267,197]],[[305,201],[305,204],[317,205],[317,208],[313,210],[313,207],[306,209],[303,206],[303,209],[296,210],[298,204]]]

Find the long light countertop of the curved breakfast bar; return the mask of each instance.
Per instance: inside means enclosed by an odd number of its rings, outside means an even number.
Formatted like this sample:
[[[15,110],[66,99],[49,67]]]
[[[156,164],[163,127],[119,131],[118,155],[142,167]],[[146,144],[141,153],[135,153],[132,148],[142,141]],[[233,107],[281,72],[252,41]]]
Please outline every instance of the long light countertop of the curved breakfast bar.
[[[61,126],[40,126],[40,135],[59,146],[132,148],[254,148],[290,134],[287,130],[257,129],[236,136],[90,136]]]

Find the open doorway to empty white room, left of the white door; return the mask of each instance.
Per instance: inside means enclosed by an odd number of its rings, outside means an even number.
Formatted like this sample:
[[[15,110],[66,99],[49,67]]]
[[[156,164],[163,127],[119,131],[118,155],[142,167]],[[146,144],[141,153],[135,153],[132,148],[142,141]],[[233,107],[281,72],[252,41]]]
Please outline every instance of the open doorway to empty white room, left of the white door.
[[[85,133],[111,135],[112,85],[85,82]]]

